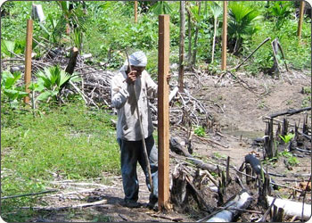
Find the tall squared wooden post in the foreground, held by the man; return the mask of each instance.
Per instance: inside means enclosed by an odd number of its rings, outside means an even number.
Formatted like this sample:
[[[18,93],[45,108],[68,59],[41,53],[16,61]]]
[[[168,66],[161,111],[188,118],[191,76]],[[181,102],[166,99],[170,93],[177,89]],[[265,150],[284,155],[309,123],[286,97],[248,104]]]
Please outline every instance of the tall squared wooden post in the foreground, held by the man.
[[[169,209],[169,15],[159,16],[158,49],[158,192],[160,210]]]

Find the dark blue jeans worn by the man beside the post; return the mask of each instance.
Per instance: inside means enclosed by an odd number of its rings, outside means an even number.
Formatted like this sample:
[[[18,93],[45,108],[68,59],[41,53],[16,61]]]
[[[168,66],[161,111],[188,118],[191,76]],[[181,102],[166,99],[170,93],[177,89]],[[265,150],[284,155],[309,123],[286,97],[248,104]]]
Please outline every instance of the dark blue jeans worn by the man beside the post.
[[[136,175],[136,164],[140,163],[145,174],[145,181],[148,189],[151,191],[150,179],[148,176],[147,163],[144,158],[144,148],[142,140],[126,141],[117,139],[120,146],[121,175],[124,187],[125,201],[137,202],[139,194],[139,183]],[[154,143],[153,136],[145,138],[145,145],[150,161],[152,173],[153,191],[150,195],[150,201],[155,202],[158,199],[158,151]]]

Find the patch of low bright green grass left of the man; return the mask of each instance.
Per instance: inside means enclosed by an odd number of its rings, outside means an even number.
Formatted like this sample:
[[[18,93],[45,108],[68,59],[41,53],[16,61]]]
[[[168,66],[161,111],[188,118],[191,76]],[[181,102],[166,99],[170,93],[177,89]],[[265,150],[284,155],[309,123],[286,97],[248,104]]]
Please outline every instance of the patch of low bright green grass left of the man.
[[[119,174],[119,146],[111,126],[115,116],[77,102],[42,111],[34,118],[30,111],[2,104],[2,196],[43,191],[55,174],[78,180]],[[2,217],[10,219],[12,207],[34,202],[33,197],[3,200]]]

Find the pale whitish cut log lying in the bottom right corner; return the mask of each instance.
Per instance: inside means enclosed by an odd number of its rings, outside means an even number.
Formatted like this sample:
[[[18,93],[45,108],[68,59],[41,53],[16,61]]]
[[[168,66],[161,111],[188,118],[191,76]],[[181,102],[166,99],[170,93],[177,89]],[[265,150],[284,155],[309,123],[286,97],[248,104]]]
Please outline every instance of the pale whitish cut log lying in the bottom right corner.
[[[267,202],[270,204],[273,202],[274,197],[272,196],[267,196]],[[286,216],[293,217],[293,216],[298,216],[301,217],[305,220],[308,220],[311,218],[311,204],[304,203],[302,202],[292,202],[290,200],[286,199],[275,199],[275,206],[277,208],[282,208],[283,213]]]

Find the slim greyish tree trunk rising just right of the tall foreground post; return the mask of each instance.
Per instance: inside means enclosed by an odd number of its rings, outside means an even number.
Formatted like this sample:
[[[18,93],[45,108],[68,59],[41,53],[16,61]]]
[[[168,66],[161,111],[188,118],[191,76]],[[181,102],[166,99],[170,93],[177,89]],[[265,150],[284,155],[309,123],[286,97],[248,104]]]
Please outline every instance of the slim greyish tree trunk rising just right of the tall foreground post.
[[[180,2],[179,92],[184,89],[185,75],[185,1]]]

